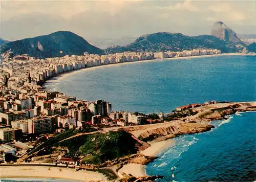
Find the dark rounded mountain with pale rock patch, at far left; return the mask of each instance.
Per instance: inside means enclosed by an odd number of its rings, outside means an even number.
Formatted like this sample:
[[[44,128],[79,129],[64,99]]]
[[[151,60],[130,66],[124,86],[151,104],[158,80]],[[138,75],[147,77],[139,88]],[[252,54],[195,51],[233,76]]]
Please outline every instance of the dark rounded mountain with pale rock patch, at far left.
[[[36,58],[83,55],[84,52],[89,54],[103,53],[101,49],[94,47],[82,37],[68,31],[16,40],[0,46],[0,53],[8,50],[11,50],[14,55],[28,54]]]

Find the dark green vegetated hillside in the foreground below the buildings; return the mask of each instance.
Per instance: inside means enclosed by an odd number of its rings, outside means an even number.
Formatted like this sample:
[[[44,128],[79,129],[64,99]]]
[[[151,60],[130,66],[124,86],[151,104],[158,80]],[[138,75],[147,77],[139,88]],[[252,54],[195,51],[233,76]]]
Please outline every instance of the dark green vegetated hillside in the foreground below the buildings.
[[[86,156],[83,160],[84,163],[101,164],[104,161],[113,160],[138,151],[136,147],[137,140],[124,130],[79,135],[78,137],[64,140],[78,132],[77,130],[67,130],[59,133],[44,144],[37,146],[30,154],[41,149],[51,151],[52,147],[66,147],[70,156]]]

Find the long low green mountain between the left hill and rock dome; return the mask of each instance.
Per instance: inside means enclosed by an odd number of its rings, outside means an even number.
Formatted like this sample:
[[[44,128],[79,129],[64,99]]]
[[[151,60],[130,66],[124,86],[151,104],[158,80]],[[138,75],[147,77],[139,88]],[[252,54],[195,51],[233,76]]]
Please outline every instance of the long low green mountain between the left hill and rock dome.
[[[241,45],[240,45],[241,44]],[[245,44],[226,42],[212,35],[186,36],[181,33],[158,32],[143,35],[133,43],[125,46],[115,46],[105,49],[106,53],[124,51],[183,51],[193,49],[218,49],[223,53],[242,51]]]

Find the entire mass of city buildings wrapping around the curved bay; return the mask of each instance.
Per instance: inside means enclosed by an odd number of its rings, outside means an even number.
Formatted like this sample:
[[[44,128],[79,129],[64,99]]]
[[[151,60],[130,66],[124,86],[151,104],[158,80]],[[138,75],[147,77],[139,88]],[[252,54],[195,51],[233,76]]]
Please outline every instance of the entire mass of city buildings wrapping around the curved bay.
[[[76,100],[59,92],[49,92],[40,85],[58,74],[104,64],[220,54],[218,50],[182,52],[124,52],[110,55],[84,54],[61,58],[36,59],[27,55],[2,55],[0,67],[0,139],[19,140],[24,134],[41,134],[58,128],[79,128],[83,124],[139,125],[143,116],[134,112],[112,111],[103,100]]]

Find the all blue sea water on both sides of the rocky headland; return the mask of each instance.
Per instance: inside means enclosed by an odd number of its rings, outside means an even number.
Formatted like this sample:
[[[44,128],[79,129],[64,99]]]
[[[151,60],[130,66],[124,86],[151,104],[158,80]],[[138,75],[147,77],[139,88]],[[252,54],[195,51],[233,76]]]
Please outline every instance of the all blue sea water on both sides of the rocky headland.
[[[170,112],[204,101],[256,101],[256,57],[217,56],[101,66],[49,82],[77,99],[103,99],[114,110]],[[147,165],[160,181],[256,180],[256,112],[211,122],[209,132],[175,138]]]

